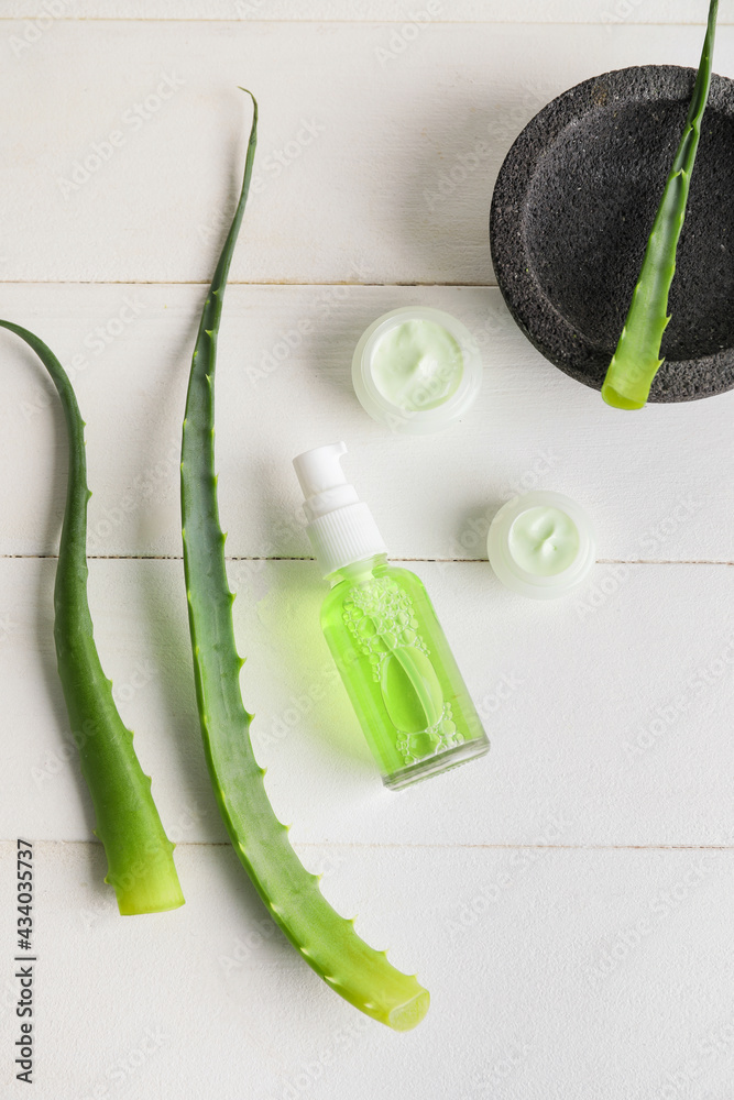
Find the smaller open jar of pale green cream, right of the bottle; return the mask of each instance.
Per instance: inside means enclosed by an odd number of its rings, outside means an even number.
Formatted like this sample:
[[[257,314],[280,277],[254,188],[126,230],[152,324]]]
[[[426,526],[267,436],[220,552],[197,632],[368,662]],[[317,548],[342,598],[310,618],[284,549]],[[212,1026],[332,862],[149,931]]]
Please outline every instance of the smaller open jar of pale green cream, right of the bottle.
[[[486,549],[513,592],[555,600],[578,587],[596,560],[596,537],[583,508],[562,493],[516,496],[497,512]]]

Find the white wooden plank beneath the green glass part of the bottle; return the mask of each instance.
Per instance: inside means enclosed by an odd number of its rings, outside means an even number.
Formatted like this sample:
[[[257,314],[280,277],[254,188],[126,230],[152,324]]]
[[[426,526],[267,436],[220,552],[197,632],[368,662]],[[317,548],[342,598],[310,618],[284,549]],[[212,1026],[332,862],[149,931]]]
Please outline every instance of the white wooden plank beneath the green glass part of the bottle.
[[[385,791],[321,637],[309,562],[232,562],[245,704],[267,790],[297,843],[734,843],[727,715],[734,573],[598,565],[551,604],[490,568],[417,563],[493,743],[482,761]],[[54,562],[0,562],[0,836],[91,836],[52,639]],[[182,564],[92,561],[102,664],[177,840],[226,835],[194,698]]]

